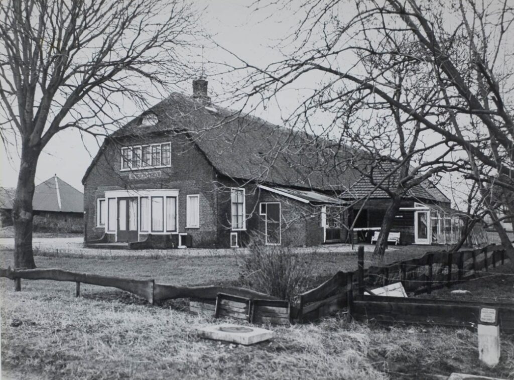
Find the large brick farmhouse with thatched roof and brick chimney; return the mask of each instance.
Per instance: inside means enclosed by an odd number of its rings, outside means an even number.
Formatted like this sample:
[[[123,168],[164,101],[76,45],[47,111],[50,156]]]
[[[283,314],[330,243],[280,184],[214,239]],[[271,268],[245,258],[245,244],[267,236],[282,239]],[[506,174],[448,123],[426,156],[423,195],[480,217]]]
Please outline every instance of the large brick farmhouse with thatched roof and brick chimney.
[[[207,81],[196,79],[192,97],[174,93],[105,139],[82,179],[85,241],[135,249],[344,242],[365,182],[351,161],[333,141],[212,104]],[[408,225],[397,226],[405,243],[414,242],[418,213],[430,234],[428,205],[450,206],[428,181],[417,192],[403,205]],[[372,230],[387,202],[369,202],[359,226]]]

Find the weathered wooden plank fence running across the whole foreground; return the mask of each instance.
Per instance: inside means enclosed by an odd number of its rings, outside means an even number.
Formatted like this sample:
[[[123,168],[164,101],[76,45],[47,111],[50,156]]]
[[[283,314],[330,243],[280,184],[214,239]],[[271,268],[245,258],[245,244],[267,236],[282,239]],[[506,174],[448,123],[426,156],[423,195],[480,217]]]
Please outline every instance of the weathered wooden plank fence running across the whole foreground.
[[[467,281],[477,272],[487,271],[491,267],[510,261],[502,246],[458,252],[429,252],[420,258],[398,261],[386,266],[370,266],[368,269],[363,267],[363,258],[363,247],[359,247],[358,269],[355,272],[336,273],[318,287],[302,293],[292,304],[264,293],[235,286],[175,286],[159,284],[155,280],[99,276],[62,269],[0,268],[0,277],[14,280],[16,291],[21,290],[21,279],[30,279],[75,282],[77,297],[80,296],[80,284],[87,283],[123,289],[152,304],[168,299],[191,298],[191,311],[207,315],[216,315],[216,300],[220,294],[226,294],[251,300],[248,310],[242,306],[239,309],[245,310],[245,318],[254,322],[307,322],[347,308],[348,317],[357,320],[469,327],[476,322],[476,318],[473,317],[478,315],[479,306],[476,303],[364,296],[364,289],[401,281],[407,292],[430,293],[433,289]],[[227,304],[230,306],[230,303]],[[487,302],[480,305],[486,304]],[[514,305],[501,304],[499,310],[504,330],[514,332]],[[241,310],[233,312],[240,313]],[[227,312],[222,311],[221,315],[224,313]]]

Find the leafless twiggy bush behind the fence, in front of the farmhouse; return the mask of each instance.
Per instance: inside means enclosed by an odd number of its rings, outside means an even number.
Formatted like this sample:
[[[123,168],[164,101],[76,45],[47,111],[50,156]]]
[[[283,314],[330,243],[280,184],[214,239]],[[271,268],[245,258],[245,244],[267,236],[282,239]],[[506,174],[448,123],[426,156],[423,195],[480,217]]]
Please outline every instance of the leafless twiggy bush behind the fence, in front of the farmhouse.
[[[289,247],[266,246],[254,239],[240,264],[240,280],[258,292],[291,300],[306,279],[306,264]]]

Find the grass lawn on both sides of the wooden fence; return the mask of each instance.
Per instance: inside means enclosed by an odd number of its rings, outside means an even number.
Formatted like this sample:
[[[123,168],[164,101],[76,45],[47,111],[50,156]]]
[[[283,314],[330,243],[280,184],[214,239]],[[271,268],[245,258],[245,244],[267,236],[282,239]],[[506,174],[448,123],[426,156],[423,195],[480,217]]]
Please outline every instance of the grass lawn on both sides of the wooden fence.
[[[1,266],[11,265],[12,252],[0,253]],[[195,285],[236,282],[237,260],[36,257],[36,264]],[[305,255],[305,260],[311,282],[356,265],[352,255]],[[507,273],[495,278],[512,289]],[[490,281],[467,284],[478,292]],[[16,293],[12,285],[0,281],[4,378],[430,379],[451,372],[514,378],[513,336],[502,336],[501,362],[492,370],[480,365],[471,331],[348,325],[344,316],[272,327],[276,339],[244,347],[199,339],[195,328],[217,321],[189,314],[185,301],[152,306],[118,289],[85,284],[75,298],[75,284],[69,282],[22,280],[22,292]]]

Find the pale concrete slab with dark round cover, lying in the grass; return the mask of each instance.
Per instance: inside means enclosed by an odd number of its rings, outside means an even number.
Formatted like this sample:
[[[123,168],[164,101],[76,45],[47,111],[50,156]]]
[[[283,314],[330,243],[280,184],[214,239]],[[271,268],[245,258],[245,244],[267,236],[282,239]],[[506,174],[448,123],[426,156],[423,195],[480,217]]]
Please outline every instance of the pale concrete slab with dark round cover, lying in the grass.
[[[242,326],[232,323],[216,324],[197,329],[202,338],[223,340],[240,345],[254,345],[273,338],[274,332],[257,327]]]

